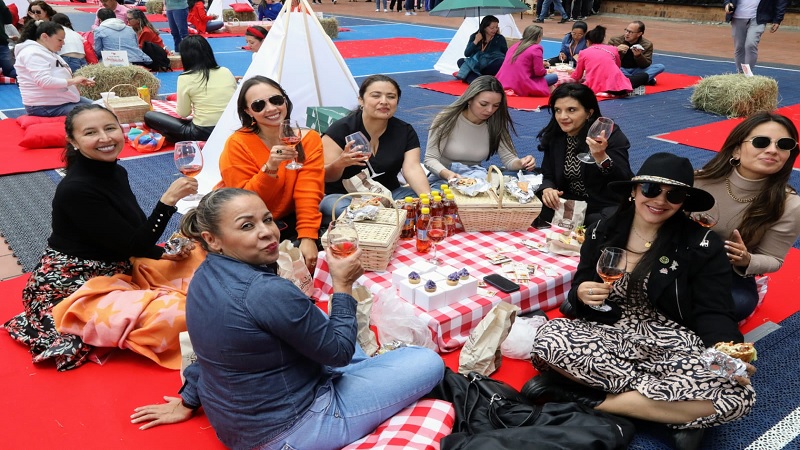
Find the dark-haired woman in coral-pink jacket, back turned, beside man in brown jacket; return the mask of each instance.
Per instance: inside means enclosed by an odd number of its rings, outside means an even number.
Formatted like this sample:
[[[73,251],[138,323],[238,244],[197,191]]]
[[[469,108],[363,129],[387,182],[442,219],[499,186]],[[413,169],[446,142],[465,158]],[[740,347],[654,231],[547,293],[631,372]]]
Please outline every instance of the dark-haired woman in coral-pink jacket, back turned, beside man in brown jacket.
[[[581,50],[572,78],[589,86],[598,95],[627,95],[647,84],[647,74],[628,77],[622,73],[617,48],[603,44],[605,39],[606,28],[601,25],[586,33],[586,49]]]

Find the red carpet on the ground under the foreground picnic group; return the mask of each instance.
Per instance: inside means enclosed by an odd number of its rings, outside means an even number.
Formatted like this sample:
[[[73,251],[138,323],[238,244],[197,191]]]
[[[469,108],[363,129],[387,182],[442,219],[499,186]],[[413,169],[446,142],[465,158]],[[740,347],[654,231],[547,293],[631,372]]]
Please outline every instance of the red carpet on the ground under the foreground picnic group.
[[[779,323],[800,310],[794,294],[800,283],[800,250],[792,249],[780,272],[770,276],[762,306],[742,327],[749,331],[764,321]],[[22,309],[20,292],[28,276],[0,282],[0,322]],[[553,319],[558,310],[547,312]],[[33,365],[27,349],[0,330],[0,423],[14,427],[3,434],[3,448],[49,450],[53,442],[67,448],[95,449],[194,448],[222,449],[205,416],[188,422],[139,431],[130,423],[134,407],[176,396],[180,378],[132,352],[117,350],[103,365],[89,363],[70,372],[56,372],[51,364]],[[458,368],[458,352],[443,355]],[[536,375],[529,361],[503,359],[492,376],[516,388]],[[13,425],[10,425],[13,424]]]

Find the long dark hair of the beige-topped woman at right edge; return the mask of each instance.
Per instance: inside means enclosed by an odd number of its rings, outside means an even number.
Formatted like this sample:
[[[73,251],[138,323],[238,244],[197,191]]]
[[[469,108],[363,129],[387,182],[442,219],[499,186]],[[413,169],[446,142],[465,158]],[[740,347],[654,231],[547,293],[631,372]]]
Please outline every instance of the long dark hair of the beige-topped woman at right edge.
[[[787,117],[770,112],[755,113],[736,125],[725,139],[720,151],[697,172],[695,178],[720,181],[728,178],[734,169],[731,165],[731,160],[734,160],[734,152],[740,148],[745,138],[757,126],[768,122],[781,125],[789,133],[789,136],[797,141],[797,128]],[[789,177],[792,175],[792,168],[798,153],[800,153],[800,148],[795,146],[789,153],[786,164],[781,170],[767,177],[764,188],[745,209],[737,229],[742,235],[742,241],[748,247],[761,241],[769,227],[783,216],[786,210],[787,191],[796,193],[795,189],[789,185]]]

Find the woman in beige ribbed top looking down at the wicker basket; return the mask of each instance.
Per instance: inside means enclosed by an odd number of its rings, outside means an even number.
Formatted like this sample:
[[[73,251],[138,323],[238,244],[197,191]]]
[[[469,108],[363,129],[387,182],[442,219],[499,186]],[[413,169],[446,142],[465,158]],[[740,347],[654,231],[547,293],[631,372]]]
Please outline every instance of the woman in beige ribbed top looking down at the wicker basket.
[[[503,85],[491,75],[470,83],[467,90],[439,113],[428,131],[425,166],[431,171],[432,185],[457,178],[453,163],[479,166],[495,154],[508,170],[532,170],[531,155],[519,158],[511,141],[516,134],[508,113]]]

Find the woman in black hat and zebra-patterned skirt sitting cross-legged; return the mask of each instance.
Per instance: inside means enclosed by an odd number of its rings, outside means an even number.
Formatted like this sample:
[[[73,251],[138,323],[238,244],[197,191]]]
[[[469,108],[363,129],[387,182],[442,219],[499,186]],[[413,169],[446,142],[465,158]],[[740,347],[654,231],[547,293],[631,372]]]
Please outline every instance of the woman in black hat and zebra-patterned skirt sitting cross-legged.
[[[714,204],[693,181],[688,159],[656,153],[633,179],[611,183],[627,198],[586,232],[567,300],[578,319],[539,329],[533,364],[542,375],[523,393],[668,424],[678,448],[694,448],[702,428],[750,411],[749,379],[721,378],[700,359],[718,342],[743,338],[722,241],[683,214]],[[607,246],[628,254],[625,274],[610,287],[595,271]],[[592,308],[604,302],[610,311]]]

